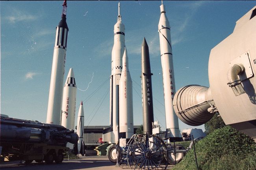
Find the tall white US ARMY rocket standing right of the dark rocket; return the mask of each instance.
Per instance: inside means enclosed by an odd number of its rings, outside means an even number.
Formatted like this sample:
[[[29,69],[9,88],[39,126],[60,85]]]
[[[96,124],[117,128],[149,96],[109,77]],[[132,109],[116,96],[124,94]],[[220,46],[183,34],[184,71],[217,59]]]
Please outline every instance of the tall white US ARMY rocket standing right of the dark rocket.
[[[171,46],[171,33],[168,18],[165,15],[163,2],[160,6],[161,16],[158,24],[160,38],[161,64],[163,70],[163,93],[165,100],[166,137],[171,141],[181,141],[178,117],[173,109],[175,93],[173,52]]]

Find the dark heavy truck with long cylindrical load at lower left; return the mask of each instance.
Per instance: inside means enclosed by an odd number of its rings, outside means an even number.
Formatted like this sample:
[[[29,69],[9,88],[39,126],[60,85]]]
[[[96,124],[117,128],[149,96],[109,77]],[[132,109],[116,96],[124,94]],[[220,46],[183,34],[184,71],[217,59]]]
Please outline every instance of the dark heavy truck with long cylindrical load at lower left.
[[[61,163],[69,151],[67,142],[75,144],[74,130],[56,124],[0,117],[1,159],[24,163]]]

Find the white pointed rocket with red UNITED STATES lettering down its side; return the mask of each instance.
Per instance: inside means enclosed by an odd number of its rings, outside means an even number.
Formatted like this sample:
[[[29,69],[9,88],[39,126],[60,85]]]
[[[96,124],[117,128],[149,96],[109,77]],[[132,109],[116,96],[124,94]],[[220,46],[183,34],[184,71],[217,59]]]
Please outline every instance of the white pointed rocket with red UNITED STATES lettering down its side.
[[[119,146],[126,146],[132,135],[134,135],[132,78],[128,67],[127,51],[124,48],[119,81]]]

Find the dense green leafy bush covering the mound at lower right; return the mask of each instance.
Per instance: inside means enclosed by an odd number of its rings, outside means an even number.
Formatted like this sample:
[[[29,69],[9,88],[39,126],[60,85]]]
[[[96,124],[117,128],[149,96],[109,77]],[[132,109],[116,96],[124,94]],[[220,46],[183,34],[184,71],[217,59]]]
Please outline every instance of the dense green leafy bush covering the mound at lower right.
[[[256,144],[238,130],[225,126],[210,133],[196,145],[200,170],[255,170]],[[197,170],[193,149],[174,170]]]

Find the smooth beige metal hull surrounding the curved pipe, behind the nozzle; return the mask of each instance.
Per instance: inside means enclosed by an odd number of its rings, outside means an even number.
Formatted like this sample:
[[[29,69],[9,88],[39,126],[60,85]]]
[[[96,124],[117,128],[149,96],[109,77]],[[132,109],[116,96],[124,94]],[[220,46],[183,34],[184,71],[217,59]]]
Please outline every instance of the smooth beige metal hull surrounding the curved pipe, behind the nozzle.
[[[210,53],[211,94],[226,124],[256,119],[256,78],[254,76],[256,70],[256,17],[250,19],[252,10],[237,21],[239,26],[236,26],[234,32],[215,46]],[[246,52],[249,52],[253,76],[242,81],[246,93],[235,96],[232,89],[227,85],[227,72],[230,68],[230,62]],[[248,61],[239,62],[243,64]]]

